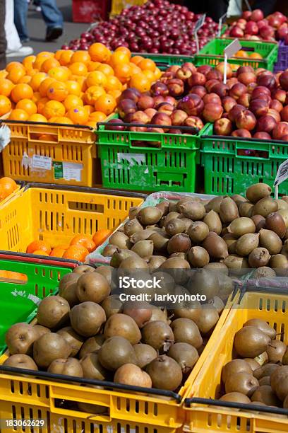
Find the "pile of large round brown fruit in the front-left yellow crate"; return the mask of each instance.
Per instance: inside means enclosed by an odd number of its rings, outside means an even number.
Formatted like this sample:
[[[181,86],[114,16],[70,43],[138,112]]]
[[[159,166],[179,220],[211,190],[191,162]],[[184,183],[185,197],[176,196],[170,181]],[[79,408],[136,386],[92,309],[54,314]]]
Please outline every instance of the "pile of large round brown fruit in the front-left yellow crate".
[[[112,271],[109,266],[80,265],[65,275],[59,294],[40,302],[35,323],[8,329],[4,365],[179,391],[220,318],[227,294],[212,275],[213,296],[203,305],[167,310],[145,302],[123,303],[111,294]],[[214,296],[215,289],[219,296]]]

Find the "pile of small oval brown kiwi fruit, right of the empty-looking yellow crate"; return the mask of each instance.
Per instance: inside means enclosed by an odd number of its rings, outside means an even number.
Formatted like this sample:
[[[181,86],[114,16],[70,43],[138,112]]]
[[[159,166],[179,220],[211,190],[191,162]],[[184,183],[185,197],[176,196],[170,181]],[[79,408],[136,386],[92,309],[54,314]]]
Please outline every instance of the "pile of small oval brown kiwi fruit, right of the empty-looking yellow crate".
[[[255,279],[287,276],[288,196],[275,200],[271,193],[269,185],[257,183],[246,197],[184,196],[131,208],[102,255],[123,269],[204,268],[239,275],[253,268]]]

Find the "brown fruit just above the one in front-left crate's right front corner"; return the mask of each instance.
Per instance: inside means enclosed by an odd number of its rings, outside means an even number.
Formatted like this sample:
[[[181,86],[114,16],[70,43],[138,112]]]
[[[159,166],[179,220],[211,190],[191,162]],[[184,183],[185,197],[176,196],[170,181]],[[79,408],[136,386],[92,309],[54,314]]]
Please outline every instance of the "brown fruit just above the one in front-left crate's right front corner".
[[[195,347],[186,342],[176,342],[170,347],[168,356],[173,358],[181,366],[182,374],[189,374],[193,366],[199,359],[199,354]]]

